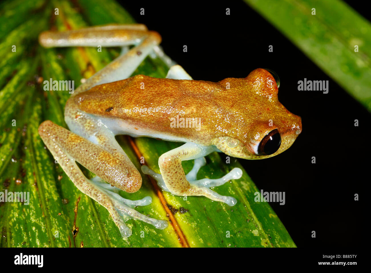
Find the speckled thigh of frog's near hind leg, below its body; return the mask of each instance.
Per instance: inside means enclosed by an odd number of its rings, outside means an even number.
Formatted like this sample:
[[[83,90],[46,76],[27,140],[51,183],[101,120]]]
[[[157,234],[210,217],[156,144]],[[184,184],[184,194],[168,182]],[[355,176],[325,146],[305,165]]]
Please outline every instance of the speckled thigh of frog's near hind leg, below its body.
[[[46,140],[50,144],[45,140],[44,142],[49,149],[58,145],[59,149],[111,185],[126,192],[136,192],[141,187],[142,178],[137,168],[119,147],[114,136],[112,142],[112,139],[100,133],[101,143],[96,144],[52,121],[40,124],[39,134],[43,140],[48,136]],[[117,144],[117,147],[114,144]]]

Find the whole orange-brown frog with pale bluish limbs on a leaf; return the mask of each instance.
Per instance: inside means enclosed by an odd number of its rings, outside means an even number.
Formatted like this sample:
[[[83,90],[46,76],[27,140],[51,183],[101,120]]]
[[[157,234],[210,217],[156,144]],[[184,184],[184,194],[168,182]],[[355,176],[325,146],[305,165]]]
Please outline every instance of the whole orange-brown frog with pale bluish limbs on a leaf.
[[[38,132],[70,180],[108,210],[124,238],[132,234],[125,224],[129,219],[158,229],[166,228],[168,222],[135,209],[150,205],[150,196],[129,200],[119,195],[138,191],[142,176],[116,135],[184,143],[159,157],[160,173],[146,165],[141,171],[173,195],[205,196],[233,206],[236,198],[220,195],[214,188],[240,179],[242,170],[233,168],[218,179],[197,179],[198,170],[206,164],[205,156],[222,152],[241,159],[266,159],[288,149],[302,131],[301,117],[278,101],[273,73],[257,68],[245,78],[195,80],[165,55],[160,34],[143,24],[48,30],[40,33],[39,43],[45,48],[122,48],[114,61],[86,79],[67,100],[64,116],[69,129],[46,120]],[[147,56],[161,58],[168,65],[166,78],[131,77]],[[184,160],[194,160],[187,175]],[[88,179],[76,162],[96,176]]]

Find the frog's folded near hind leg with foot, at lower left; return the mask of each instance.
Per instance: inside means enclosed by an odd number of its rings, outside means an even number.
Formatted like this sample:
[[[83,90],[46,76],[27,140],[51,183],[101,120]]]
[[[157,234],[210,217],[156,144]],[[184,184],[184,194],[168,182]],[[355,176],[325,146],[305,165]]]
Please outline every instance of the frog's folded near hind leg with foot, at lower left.
[[[120,189],[135,192],[140,188],[141,176],[131,161],[125,158],[125,153],[114,146],[92,143],[50,120],[40,124],[39,135],[76,187],[109,211],[123,237],[131,235],[131,230],[125,224],[131,218],[159,229],[167,227],[167,221],[147,217],[134,209],[136,206],[150,204],[150,196],[137,201],[122,198],[117,194],[118,188],[102,182],[100,178],[87,179],[75,162]]]

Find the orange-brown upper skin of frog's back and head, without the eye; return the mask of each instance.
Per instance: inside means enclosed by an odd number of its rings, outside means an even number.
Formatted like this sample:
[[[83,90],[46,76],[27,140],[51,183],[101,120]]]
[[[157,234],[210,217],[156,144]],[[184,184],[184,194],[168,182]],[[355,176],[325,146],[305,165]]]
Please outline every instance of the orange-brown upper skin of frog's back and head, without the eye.
[[[226,89],[227,82],[230,89]],[[125,120],[134,128],[165,133],[174,139],[183,137],[203,146],[216,145],[231,156],[263,159],[286,150],[301,132],[301,118],[280,104],[277,94],[275,79],[261,68],[246,78],[220,82],[137,75],[93,87],[71,98],[68,107]],[[108,108],[112,110],[106,111]],[[201,118],[201,129],[171,128],[170,118],[177,115]],[[273,155],[255,155],[252,146],[276,128],[282,139],[280,149]],[[239,146],[228,147],[226,137],[238,140]]]

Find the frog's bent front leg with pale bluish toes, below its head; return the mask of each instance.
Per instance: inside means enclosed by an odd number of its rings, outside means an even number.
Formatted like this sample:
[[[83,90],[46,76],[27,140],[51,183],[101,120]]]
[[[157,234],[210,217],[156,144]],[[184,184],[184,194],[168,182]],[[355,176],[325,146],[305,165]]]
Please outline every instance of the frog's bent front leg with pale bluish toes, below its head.
[[[214,201],[224,202],[230,206],[237,203],[237,200],[231,196],[219,195],[210,188],[223,185],[230,179],[239,179],[242,171],[234,168],[227,175],[219,179],[200,179],[196,180],[198,170],[205,164],[204,156],[216,151],[213,146],[201,146],[193,142],[187,142],[184,145],[164,153],[158,159],[160,174],[154,173],[147,166],[142,166],[142,171],[153,176],[160,187],[179,196],[206,196]],[[181,162],[183,160],[195,159],[195,165],[187,176],[184,173]]]

